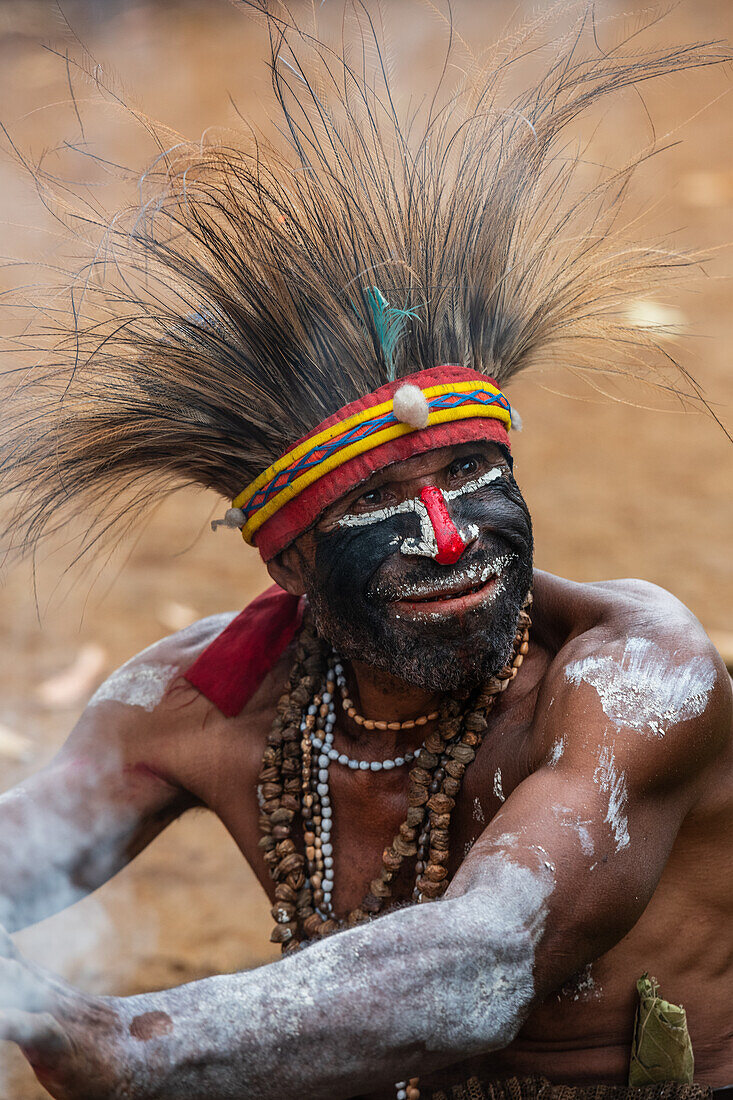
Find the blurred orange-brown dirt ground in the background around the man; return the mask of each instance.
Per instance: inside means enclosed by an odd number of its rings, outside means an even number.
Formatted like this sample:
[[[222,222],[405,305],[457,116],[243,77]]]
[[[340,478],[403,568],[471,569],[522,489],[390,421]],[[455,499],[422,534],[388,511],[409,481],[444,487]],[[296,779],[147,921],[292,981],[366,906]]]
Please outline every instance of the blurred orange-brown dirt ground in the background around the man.
[[[599,0],[602,16],[646,9],[638,0]],[[479,44],[502,33],[515,11],[536,6],[456,2],[456,18]],[[236,111],[269,110],[264,38],[225,0],[194,3],[64,6],[94,57],[114,70],[125,94],[153,118],[188,138],[209,125],[236,125]],[[407,74],[430,73],[445,38],[418,0],[391,0],[393,48]],[[558,20],[565,18],[558,13]],[[601,28],[602,19],[599,20]],[[727,0],[675,9],[657,38],[733,40]],[[44,48],[72,54],[78,43],[52,2],[0,6],[0,120],[33,155],[74,128],[66,66]],[[97,148],[138,163],[139,132],[78,82],[80,109],[96,125]],[[632,201],[652,210],[653,228],[711,257],[707,277],[670,306],[697,333],[683,355],[731,427],[730,283],[733,239],[731,72],[689,74],[644,89],[657,133],[679,141],[635,180]],[[96,119],[96,122],[94,120]],[[66,129],[65,129],[66,128]],[[677,129],[679,128],[679,129]],[[605,114],[601,142],[619,164],[648,140],[638,97]],[[3,256],[43,260],[51,226],[28,178],[0,160]],[[22,279],[0,272],[0,289]],[[572,394],[565,399],[561,394]],[[515,444],[517,476],[532,508],[537,563],[576,580],[641,576],[675,592],[710,631],[731,619],[730,442],[710,419],[649,411],[598,397],[558,372],[527,377],[511,391],[525,431]],[[637,395],[654,404],[647,394]],[[194,617],[238,608],[266,583],[256,556],[234,537],[208,531],[219,505],[184,493],[106,564],[62,575],[63,549],[51,548],[34,579],[28,566],[0,587],[0,787],[47,760],[103,675]],[[250,792],[243,791],[242,798]],[[218,822],[194,814],[172,826],[135,864],[68,914],[19,937],[33,957],[89,990],[128,993],[177,985],[275,957],[265,900]],[[14,1052],[0,1055],[0,1100],[46,1093]]]

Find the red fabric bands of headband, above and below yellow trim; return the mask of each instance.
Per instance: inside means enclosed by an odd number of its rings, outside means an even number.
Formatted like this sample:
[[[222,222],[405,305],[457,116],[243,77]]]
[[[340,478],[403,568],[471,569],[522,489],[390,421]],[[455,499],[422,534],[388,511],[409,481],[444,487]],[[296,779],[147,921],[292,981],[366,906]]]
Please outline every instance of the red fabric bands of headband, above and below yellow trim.
[[[380,386],[365,397],[360,397],[342,409],[328,417],[319,424],[308,436],[304,436],[293,447],[318,435],[332,424],[346,420],[355,413],[379,405],[394,396],[395,392],[405,383],[427,389],[428,386],[438,386],[448,382],[489,382],[496,385],[493,378],[478,371],[470,371],[464,366],[434,366],[427,371],[418,371],[406,378],[397,378]],[[499,388],[499,387],[497,387]],[[488,440],[492,443],[501,443],[507,451],[511,450],[508,432],[501,420],[489,417],[468,417],[466,420],[453,420],[449,424],[436,424],[417,431],[411,431],[397,439],[381,443],[371,451],[359,454],[343,465],[324,474],[318,481],[308,485],[293,501],[275,513],[274,516],[262,525],[254,542],[264,561],[270,561],[280,553],[286,546],[293,542],[298,535],[303,535],[335,501],[350,493],[362,482],[368,481],[378,470],[392,465],[395,462],[403,462],[412,459],[414,454],[424,454],[438,447],[451,447],[457,443],[466,443],[471,440]]]

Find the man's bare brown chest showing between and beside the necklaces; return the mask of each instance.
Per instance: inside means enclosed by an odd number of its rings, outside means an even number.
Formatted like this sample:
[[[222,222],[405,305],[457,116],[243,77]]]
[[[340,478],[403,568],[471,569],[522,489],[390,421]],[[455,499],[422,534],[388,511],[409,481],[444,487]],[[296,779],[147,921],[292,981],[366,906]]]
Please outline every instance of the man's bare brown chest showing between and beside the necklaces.
[[[470,851],[489,822],[523,779],[532,761],[532,727],[523,715],[497,713],[490,723],[475,758],[466,768],[448,831],[449,878]],[[271,715],[265,711],[245,715],[239,734],[231,724],[211,738],[206,773],[199,776],[197,794],[221,818],[243,856],[272,899],[274,882],[263,851],[263,807],[276,796],[277,783],[262,779],[262,756],[267,744]],[[351,759],[373,761],[398,757],[393,745],[374,739],[360,747],[349,745],[336,730],[335,745]],[[333,908],[346,916],[360,904],[370,882],[382,867],[382,854],[404,825],[408,809],[411,765],[390,770],[352,769],[335,761],[329,769],[331,829],[329,843],[333,869]],[[307,826],[296,814],[292,837],[305,850]],[[417,871],[414,857],[406,858],[394,881],[393,899],[413,897]]]

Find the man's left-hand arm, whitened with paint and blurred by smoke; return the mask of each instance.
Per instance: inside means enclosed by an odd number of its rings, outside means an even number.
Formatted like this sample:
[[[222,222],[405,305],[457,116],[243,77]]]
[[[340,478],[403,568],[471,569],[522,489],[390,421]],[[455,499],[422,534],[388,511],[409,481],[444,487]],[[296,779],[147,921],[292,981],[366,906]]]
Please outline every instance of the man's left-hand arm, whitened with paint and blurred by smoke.
[[[0,796],[0,924],[10,931],[101,886],[192,804],[150,763],[174,721],[164,698],[173,649],[165,639],[112,673],[57,756]]]

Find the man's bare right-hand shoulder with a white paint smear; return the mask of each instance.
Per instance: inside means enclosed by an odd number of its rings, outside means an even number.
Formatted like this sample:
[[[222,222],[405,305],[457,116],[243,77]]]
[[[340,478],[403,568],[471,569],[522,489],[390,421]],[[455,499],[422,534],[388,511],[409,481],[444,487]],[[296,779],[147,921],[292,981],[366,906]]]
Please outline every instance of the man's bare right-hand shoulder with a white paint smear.
[[[540,759],[591,760],[612,738],[644,787],[730,758],[731,678],[679,600],[645,581],[572,584],[546,574],[539,595],[562,624],[538,698]]]

